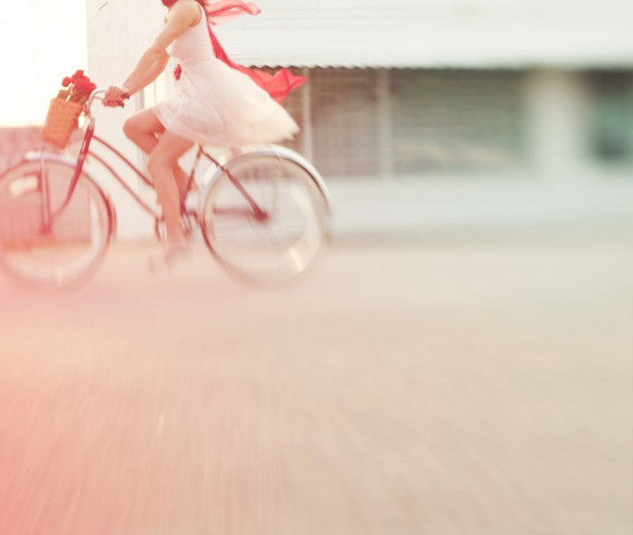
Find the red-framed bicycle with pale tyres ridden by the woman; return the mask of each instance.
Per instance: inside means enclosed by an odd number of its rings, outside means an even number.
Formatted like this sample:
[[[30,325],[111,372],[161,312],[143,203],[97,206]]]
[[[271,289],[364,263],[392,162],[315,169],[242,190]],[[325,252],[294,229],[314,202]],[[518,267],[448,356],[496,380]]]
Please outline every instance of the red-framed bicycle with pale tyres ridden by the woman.
[[[114,177],[148,215],[163,239],[163,217],[143,200],[105,158],[100,146],[141,179],[149,177],[105,139],[95,135],[91,107],[104,88],[84,105],[86,127],[78,157],[31,152],[0,176],[0,268],[38,286],[61,288],[85,281],[107,253],[117,229],[115,206],[86,164],[92,158]],[[213,167],[204,174],[197,209],[187,200],[198,184],[202,158]],[[238,149],[226,161],[196,146],[181,218],[186,234],[199,228],[204,244],[232,276],[253,285],[279,285],[312,266],[330,238],[326,185],[305,158],[278,145]],[[191,204],[191,203],[189,203]]]

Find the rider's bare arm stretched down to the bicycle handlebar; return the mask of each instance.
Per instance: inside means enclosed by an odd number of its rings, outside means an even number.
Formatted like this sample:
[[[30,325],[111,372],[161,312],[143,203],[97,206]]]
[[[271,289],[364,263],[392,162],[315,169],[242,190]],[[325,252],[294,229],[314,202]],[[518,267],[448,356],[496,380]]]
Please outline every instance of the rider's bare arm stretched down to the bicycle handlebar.
[[[156,80],[160,72],[165,69],[167,60],[166,48],[170,43],[184,33],[190,26],[196,24],[200,19],[200,9],[195,0],[190,2],[179,2],[174,5],[171,16],[165,24],[165,28],[158,33],[154,43],[146,50],[137,62],[137,66],[130,73],[126,81],[121,86],[111,86],[104,98],[104,104],[116,105],[121,101],[123,95],[131,96],[141,91],[151,81]],[[160,70],[159,70],[160,69]]]

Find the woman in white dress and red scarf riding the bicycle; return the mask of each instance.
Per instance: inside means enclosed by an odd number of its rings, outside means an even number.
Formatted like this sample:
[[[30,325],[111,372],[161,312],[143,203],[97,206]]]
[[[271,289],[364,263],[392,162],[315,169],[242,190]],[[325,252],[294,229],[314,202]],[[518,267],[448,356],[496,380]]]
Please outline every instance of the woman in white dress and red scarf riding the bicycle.
[[[211,26],[236,14],[258,14],[241,0],[162,0],[165,28],[137,62],[126,81],[109,87],[104,105],[115,107],[141,91],[165,70],[169,57],[180,63],[175,92],[130,117],[124,132],[148,155],[147,169],[163,209],[166,245],[172,263],[188,252],[180,219],[187,176],[178,158],[195,144],[240,147],[290,139],[297,123],[280,105],[305,79],[286,70],[271,76],[244,69],[226,56]]]

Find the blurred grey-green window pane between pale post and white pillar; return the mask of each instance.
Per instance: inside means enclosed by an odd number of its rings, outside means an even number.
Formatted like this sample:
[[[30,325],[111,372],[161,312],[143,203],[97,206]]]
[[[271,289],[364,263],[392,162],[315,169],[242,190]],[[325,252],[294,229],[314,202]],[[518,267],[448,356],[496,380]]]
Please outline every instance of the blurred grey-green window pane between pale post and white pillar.
[[[523,161],[520,73],[396,70],[391,86],[397,175]]]

